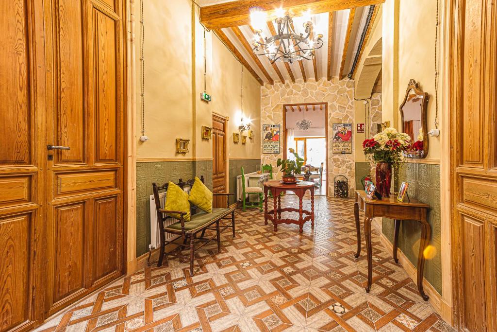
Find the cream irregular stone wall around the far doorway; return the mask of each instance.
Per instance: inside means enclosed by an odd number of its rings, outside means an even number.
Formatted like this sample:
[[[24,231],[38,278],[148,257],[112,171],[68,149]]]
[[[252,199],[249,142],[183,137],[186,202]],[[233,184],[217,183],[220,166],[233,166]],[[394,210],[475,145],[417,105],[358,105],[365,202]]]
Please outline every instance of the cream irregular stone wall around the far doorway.
[[[265,85],[261,88],[261,125],[280,123],[283,126],[283,105],[303,103],[328,104],[328,186],[329,195],[333,195],[333,177],[345,175],[349,179],[349,193],[352,196],[355,190],[355,158],[352,154],[332,153],[332,125],[333,123],[352,123],[352,132],[355,132],[353,81],[344,79],[339,81],[333,77],[331,81],[309,79],[307,83],[298,79],[295,84],[290,82]],[[282,128],[281,137],[285,134]],[[352,139],[355,139],[354,135]],[[281,145],[283,145],[281,139]],[[262,143],[261,143],[262,144]],[[354,146],[352,144],[352,149]],[[262,149],[261,149],[262,151]],[[276,167],[276,160],[283,157],[283,146],[280,154],[262,154],[262,164],[272,164]],[[276,176],[281,176],[276,173]]]

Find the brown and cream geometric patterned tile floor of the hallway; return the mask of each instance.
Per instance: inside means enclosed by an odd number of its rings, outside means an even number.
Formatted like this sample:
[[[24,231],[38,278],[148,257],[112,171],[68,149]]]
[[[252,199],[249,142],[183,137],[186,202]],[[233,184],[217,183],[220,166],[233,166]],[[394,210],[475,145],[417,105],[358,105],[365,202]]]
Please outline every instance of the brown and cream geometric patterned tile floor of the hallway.
[[[296,197],[285,195],[282,205]],[[309,200],[306,200],[307,205]],[[237,231],[188,261],[170,259],[110,285],[40,331],[452,331],[418,295],[374,234],[374,284],[365,248],[354,259],[351,200],[316,198],[316,226],[264,225],[237,211]]]

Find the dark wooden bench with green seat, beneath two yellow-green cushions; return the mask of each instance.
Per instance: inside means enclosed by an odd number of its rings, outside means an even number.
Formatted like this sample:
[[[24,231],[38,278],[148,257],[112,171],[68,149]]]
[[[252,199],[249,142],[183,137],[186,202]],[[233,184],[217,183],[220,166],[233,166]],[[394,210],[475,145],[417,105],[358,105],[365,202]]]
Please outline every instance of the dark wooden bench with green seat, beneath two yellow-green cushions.
[[[202,183],[204,182],[204,177],[201,176],[200,180]],[[182,179],[179,179],[179,183],[177,185],[184,190],[185,187],[191,188],[193,186],[193,182],[195,180],[188,180],[186,182],[183,182]],[[160,231],[160,237],[161,237],[161,251],[159,254],[159,262],[157,263],[157,266],[162,266],[164,256],[165,255],[171,255],[174,257],[181,258],[182,255],[180,253],[175,253],[174,251],[166,253],[166,245],[167,244],[175,244],[178,245],[178,247],[181,248],[181,250],[184,249],[186,242],[188,239],[190,239],[190,276],[193,276],[193,255],[194,251],[205,244],[207,244],[209,241],[213,240],[214,238],[217,239],[217,244],[218,244],[218,251],[221,250],[221,238],[220,234],[222,231],[224,231],[226,228],[232,228],[233,231],[233,237],[235,237],[235,208],[231,208],[229,206],[229,197],[230,195],[235,195],[233,193],[216,193],[213,194],[214,197],[216,196],[225,196],[226,197],[226,208],[221,208],[221,209],[212,209],[212,213],[205,213],[205,212],[198,212],[196,213],[197,207],[191,207],[190,209],[190,214],[191,214],[191,220],[190,221],[184,221],[183,217],[186,215],[186,212],[181,212],[181,211],[168,211],[164,210],[163,207],[161,207],[161,200],[159,197],[159,193],[162,191],[167,191],[167,186],[168,184],[164,184],[162,186],[158,186],[156,183],[152,184],[153,190],[154,190],[154,201],[156,204],[156,211],[157,211],[157,221],[159,222],[159,231]],[[179,214],[180,220],[176,222],[174,219],[170,218],[167,216],[167,214]],[[231,216],[230,216],[231,215]],[[228,222],[226,224],[220,225],[220,221],[223,220],[229,220],[231,222]],[[166,221],[170,221],[169,225],[166,225]],[[215,226],[214,226],[215,224]],[[220,228],[222,227],[222,228]],[[206,230],[215,230],[216,235],[210,238],[204,237],[205,231]],[[200,237],[197,237],[197,233],[201,232]],[[175,235],[181,235],[181,238],[183,239],[182,244],[178,244],[175,242],[179,237],[175,237],[172,240],[166,240],[166,233],[170,234],[175,234]],[[195,248],[195,240],[200,240],[204,241],[203,244],[197,246]]]

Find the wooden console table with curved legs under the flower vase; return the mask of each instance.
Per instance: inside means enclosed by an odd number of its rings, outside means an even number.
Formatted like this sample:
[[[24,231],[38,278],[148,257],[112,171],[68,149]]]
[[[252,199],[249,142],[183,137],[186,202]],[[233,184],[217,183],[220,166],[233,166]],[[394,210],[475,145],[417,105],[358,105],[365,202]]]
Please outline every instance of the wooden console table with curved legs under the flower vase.
[[[421,239],[419,241],[419,255],[417,258],[417,289],[424,301],[428,301],[428,296],[423,291],[423,269],[424,255],[423,251],[428,245],[431,236],[431,226],[427,221],[429,206],[420,203],[417,200],[411,202],[399,202],[397,197],[378,199],[369,199],[363,190],[355,191],[355,229],[357,232],[357,253],[354,255],[358,258],[361,254],[361,230],[359,224],[359,210],[364,211],[364,233],[366,235],[366,249],[368,261],[368,283],[366,292],[369,293],[373,282],[373,253],[371,247],[371,222],[375,217],[385,217],[393,219],[394,224],[394,250],[393,257],[396,263],[397,259],[397,240],[399,238],[399,228],[402,220],[415,220],[421,223]]]

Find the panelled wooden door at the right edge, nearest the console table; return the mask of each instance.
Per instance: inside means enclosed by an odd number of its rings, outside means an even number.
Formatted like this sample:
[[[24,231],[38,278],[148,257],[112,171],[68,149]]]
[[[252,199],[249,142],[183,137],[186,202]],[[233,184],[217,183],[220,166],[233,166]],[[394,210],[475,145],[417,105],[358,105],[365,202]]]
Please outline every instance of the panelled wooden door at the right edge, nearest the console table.
[[[497,9],[493,0],[453,3],[454,318],[497,331]]]

